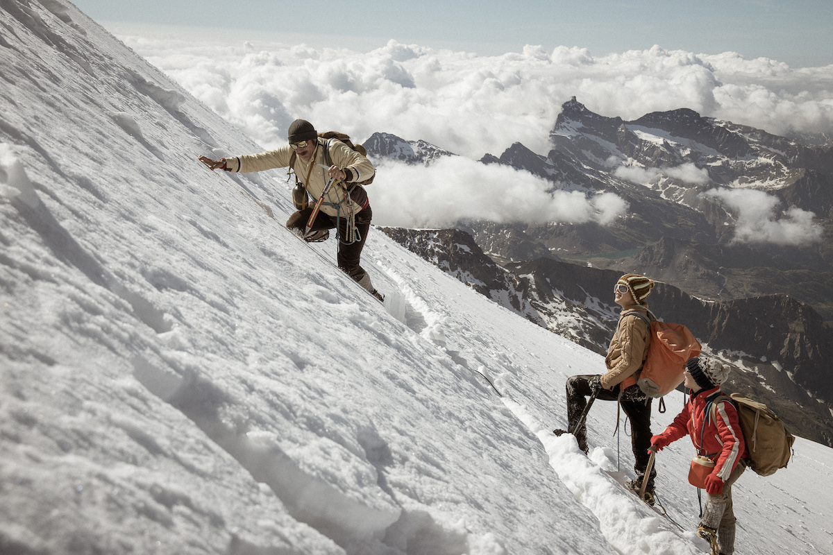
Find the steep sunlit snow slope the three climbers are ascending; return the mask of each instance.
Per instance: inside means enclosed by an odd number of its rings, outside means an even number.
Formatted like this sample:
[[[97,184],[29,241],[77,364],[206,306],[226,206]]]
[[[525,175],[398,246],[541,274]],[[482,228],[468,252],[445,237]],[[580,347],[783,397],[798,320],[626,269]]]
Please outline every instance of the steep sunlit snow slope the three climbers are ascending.
[[[688,445],[659,458],[682,532],[606,473],[615,405],[591,460],[549,434],[600,356],[372,233],[382,307],[284,228],[282,171],[196,160],[257,145],[71,4],[0,25],[0,552],[705,548]],[[743,478],[739,553],[831,553],[831,466],[800,440]]]

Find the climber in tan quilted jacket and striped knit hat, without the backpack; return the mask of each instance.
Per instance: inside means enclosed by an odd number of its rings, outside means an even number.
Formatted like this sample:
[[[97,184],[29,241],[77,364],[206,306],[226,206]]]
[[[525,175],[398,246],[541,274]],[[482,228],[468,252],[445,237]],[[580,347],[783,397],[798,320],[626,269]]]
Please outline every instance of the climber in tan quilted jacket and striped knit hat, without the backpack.
[[[642,369],[651,344],[651,328],[646,320],[653,319],[646,299],[651,294],[654,282],[644,275],[626,274],[616,281],[614,302],[621,306],[619,323],[607,349],[605,374],[578,375],[567,379],[567,428],[576,427],[581,413],[587,405],[587,397],[596,392],[596,399],[618,401],[631,420],[631,448],[635,458],[636,478],[627,485],[641,489],[648,466],[648,448],[651,447],[651,398],[636,384],[636,374]],[[639,315],[642,316],[642,318]],[[556,435],[566,432],[554,430]],[[575,431],[579,447],[587,453],[587,428],[584,422]],[[656,470],[651,468],[646,488],[646,502],[654,503],[654,478]]]

